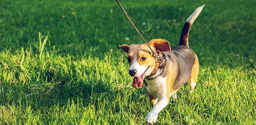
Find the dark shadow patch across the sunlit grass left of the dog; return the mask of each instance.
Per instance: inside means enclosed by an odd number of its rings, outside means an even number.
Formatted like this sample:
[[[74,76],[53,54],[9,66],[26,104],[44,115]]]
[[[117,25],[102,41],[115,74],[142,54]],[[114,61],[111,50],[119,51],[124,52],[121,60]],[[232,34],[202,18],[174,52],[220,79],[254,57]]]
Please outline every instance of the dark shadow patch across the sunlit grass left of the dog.
[[[2,83],[0,105],[16,105],[27,107],[30,105],[34,110],[51,108],[54,104],[66,106],[68,100],[83,98],[83,105],[88,106],[91,99],[103,93],[114,93],[110,86],[104,85],[102,81],[95,85],[79,82],[69,84],[68,82],[53,84],[31,84],[22,85]]]

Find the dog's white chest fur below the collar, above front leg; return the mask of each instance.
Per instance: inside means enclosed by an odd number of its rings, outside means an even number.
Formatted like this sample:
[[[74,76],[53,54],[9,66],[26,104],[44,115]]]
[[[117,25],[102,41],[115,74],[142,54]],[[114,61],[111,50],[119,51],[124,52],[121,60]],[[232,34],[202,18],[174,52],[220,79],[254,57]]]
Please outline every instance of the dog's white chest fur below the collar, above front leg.
[[[159,97],[161,95],[165,95],[166,90],[166,79],[167,77],[157,77],[153,80],[145,79],[147,86],[145,86],[148,93],[153,95],[154,97]]]

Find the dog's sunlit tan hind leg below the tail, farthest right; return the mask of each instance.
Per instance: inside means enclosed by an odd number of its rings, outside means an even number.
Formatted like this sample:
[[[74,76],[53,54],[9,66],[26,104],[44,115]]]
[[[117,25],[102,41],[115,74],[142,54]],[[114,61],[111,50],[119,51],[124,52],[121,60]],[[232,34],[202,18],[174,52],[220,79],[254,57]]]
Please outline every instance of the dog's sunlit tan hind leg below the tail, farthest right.
[[[190,93],[192,93],[195,88],[198,73],[199,73],[199,61],[198,61],[197,56],[195,55],[194,65],[192,67],[192,71],[191,71],[190,77],[188,79]]]

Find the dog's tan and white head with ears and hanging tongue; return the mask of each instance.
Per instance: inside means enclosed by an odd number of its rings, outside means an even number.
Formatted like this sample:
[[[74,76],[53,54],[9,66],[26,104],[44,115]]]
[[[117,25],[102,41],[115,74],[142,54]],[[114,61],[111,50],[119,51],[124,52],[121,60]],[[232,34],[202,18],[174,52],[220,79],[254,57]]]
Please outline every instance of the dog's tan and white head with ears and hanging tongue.
[[[155,52],[171,51],[169,42],[162,39],[153,39],[148,44]],[[120,45],[119,47],[128,53],[129,73],[134,77],[133,86],[135,88],[141,87],[145,76],[149,76],[153,71],[156,58],[146,44]]]

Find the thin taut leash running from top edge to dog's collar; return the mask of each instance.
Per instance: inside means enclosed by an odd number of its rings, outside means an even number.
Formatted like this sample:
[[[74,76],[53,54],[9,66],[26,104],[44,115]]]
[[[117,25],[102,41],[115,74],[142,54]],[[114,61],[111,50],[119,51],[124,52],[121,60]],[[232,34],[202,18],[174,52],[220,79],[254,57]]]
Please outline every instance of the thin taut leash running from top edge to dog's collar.
[[[134,29],[137,31],[137,33],[139,34],[139,36],[141,36],[142,40],[146,43],[146,45],[149,47],[150,51],[152,51],[152,53],[154,54],[154,56],[158,59],[158,60],[162,60],[162,58],[157,55],[153,49],[148,45],[148,43],[146,42],[146,40],[144,39],[144,37],[142,36],[141,32],[138,31],[138,29],[136,28],[136,26],[134,25],[133,21],[130,19],[130,17],[127,15],[126,11],[124,10],[123,6],[121,5],[121,3],[118,0],[117,1],[118,5],[120,6],[120,8],[123,10],[124,15],[128,18],[128,20],[132,23]]]

